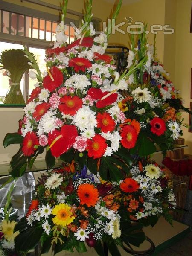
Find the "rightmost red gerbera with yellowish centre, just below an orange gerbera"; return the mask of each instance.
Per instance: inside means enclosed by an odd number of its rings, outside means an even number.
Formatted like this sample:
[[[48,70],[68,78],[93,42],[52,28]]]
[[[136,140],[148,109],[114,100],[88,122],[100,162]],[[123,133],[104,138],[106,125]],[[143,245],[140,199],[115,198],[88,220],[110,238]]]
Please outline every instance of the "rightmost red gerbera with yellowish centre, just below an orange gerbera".
[[[137,131],[132,125],[124,125],[120,130],[121,144],[124,148],[134,148],[137,141]]]

